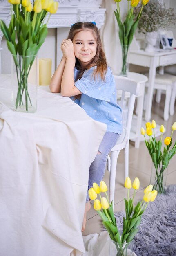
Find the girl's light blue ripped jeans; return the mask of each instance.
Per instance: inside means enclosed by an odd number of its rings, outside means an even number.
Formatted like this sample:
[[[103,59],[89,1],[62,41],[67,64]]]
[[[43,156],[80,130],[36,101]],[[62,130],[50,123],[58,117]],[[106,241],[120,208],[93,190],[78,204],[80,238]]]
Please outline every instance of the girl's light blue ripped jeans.
[[[89,184],[88,190],[93,187],[96,182],[100,186],[100,181],[103,179],[106,170],[107,155],[111,151],[120,137],[120,134],[114,132],[106,132],[98,149],[98,153],[91,163],[89,168]],[[86,202],[89,201],[89,194],[87,191]]]

